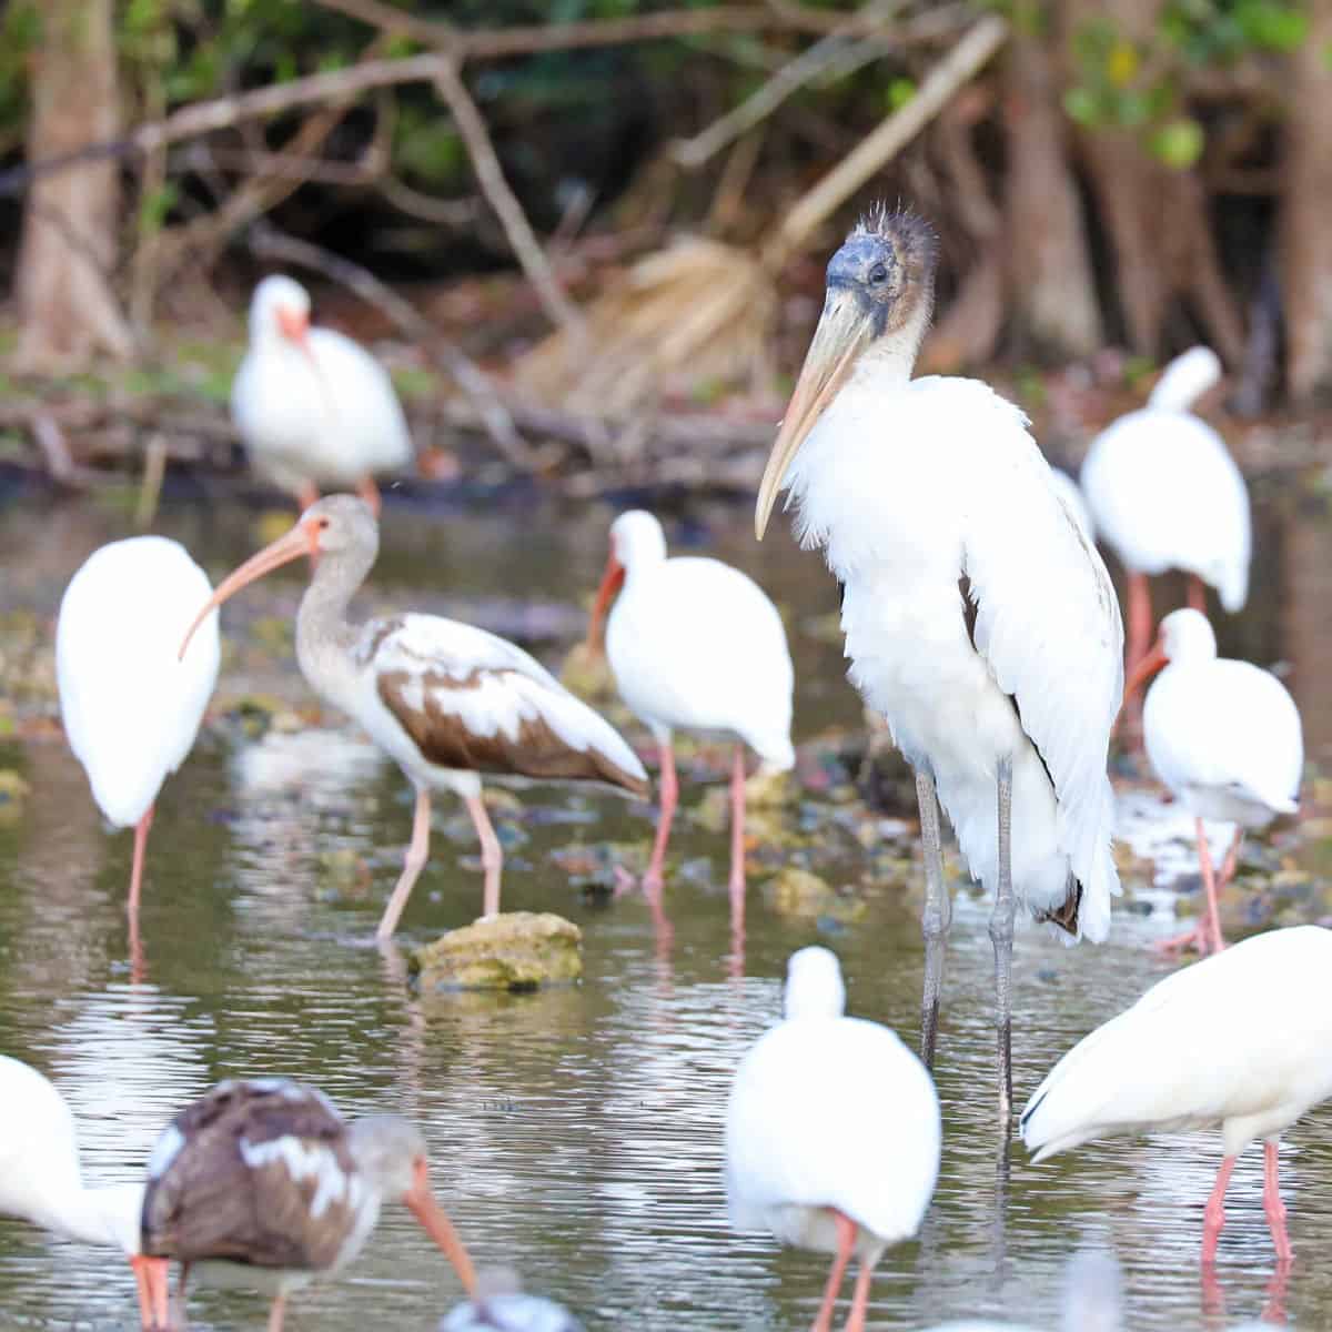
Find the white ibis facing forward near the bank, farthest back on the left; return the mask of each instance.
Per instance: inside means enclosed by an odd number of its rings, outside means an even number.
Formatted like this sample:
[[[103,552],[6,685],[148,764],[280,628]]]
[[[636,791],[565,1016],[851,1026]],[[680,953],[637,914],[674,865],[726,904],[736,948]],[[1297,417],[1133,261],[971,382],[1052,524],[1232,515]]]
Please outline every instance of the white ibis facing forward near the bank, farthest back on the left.
[[[310,328],[310,297],[290,277],[265,277],[254,288],[249,336],[232,418],[254,470],[302,509],[325,486],[357,489],[378,513],[376,476],[412,461],[388,372],[342,333]]]

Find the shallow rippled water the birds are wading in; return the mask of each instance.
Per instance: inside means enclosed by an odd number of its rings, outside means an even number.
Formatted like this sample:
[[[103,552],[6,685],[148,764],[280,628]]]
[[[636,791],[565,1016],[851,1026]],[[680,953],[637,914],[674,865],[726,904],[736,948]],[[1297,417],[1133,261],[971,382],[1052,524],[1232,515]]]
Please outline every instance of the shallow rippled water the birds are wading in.
[[[466,615],[558,663],[581,629],[577,601],[595,585],[611,515],[579,513],[574,525],[569,513],[511,498],[478,501],[470,515],[390,505],[362,609]],[[749,567],[797,630],[835,610],[818,562],[785,533],[755,547],[749,521],[743,507],[705,506],[670,535],[675,549],[698,545]],[[177,503],[159,527],[216,575],[253,547],[252,525],[245,510]],[[0,521],[0,610],[52,618],[77,563],[120,534],[111,513],[11,503]],[[1332,523],[1320,509],[1297,513],[1273,494],[1261,509],[1259,549],[1255,610],[1221,623],[1223,649],[1295,663],[1309,751],[1327,770]],[[225,622],[289,614],[302,577],[253,589]],[[839,645],[797,633],[793,646],[797,738],[856,725]],[[248,689],[309,703],[285,653],[273,661],[238,649],[224,666],[224,691]],[[582,926],[586,980],[537,995],[421,999],[405,984],[401,958],[366,944],[409,832],[397,771],[333,717],[261,742],[216,725],[159,805],[143,916],[147,976],[136,983],[125,962],[128,834],[103,829],[59,738],[3,743],[0,767],[19,767],[33,789],[21,817],[0,823],[0,1048],[48,1071],[71,1099],[93,1181],[137,1177],[163,1123],[216,1079],[285,1072],[317,1083],[350,1115],[416,1116],[438,1193],[476,1259],[518,1267],[529,1288],[559,1297],[591,1329],[809,1325],[825,1259],[726,1227],[729,1079],[778,1014],[786,956],[815,940],[842,956],[851,1010],[914,1040],[915,884],[911,892],[871,884],[866,915],[848,927],[779,916],[751,887],[739,964],[725,835],[678,826],[674,852],[687,872],[667,886],[667,938],[642,899],[595,904],[549,859],[575,840],[646,840],[646,810],[533,790],[523,793],[522,815],[501,821],[511,843],[505,906],[555,910]],[[701,794],[686,787],[686,805]],[[457,815],[440,802],[405,943],[469,920],[478,907],[474,847]],[[848,851],[825,872],[860,883],[864,856]],[[1000,1313],[1055,1325],[1063,1264],[1088,1241],[1119,1253],[1131,1327],[1220,1327],[1277,1307],[1307,1328],[1332,1321],[1332,1271],[1321,1261],[1332,1243],[1327,1112],[1311,1115],[1283,1151],[1297,1255],[1284,1291],[1273,1287],[1256,1148],[1235,1173],[1209,1288],[1200,1284],[1197,1245],[1220,1158],[1215,1135],[1091,1146],[1042,1167],[1016,1144],[1000,1192],[988,903],[959,886],[955,898],[938,1060],[943,1173],[919,1241],[880,1264],[871,1324]],[[1064,950],[1035,931],[1019,934],[1019,1103],[1074,1039],[1166,974],[1146,943],[1168,930],[1159,912],[1120,911],[1100,948]],[[293,1300],[289,1325],[350,1332],[376,1319],[429,1328],[457,1295],[448,1267],[396,1209],[348,1277]],[[202,1291],[190,1316],[197,1328],[258,1327],[264,1305],[246,1293]],[[0,1220],[0,1327],[136,1321],[123,1261]]]

